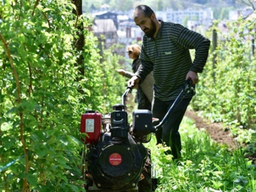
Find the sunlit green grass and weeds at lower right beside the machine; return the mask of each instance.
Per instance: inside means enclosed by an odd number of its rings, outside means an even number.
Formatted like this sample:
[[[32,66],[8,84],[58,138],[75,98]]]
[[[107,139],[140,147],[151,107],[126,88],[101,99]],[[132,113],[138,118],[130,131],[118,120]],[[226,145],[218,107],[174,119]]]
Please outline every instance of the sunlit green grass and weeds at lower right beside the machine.
[[[255,165],[244,158],[243,148],[229,151],[198,130],[193,120],[184,117],[180,134],[183,160],[177,164],[168,147],[156,146],[152,137],[145,146],[152,151],[159,180],[156,191],[256,191]]]

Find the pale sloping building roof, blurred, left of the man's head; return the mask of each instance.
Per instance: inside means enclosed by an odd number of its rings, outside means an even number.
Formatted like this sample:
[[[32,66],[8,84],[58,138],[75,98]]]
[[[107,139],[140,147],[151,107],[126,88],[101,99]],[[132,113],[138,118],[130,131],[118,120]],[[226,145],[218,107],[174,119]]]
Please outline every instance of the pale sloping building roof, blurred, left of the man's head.
[[[95,19],[93,25],[94,33],[116,32],[116,26],[113,19]]]

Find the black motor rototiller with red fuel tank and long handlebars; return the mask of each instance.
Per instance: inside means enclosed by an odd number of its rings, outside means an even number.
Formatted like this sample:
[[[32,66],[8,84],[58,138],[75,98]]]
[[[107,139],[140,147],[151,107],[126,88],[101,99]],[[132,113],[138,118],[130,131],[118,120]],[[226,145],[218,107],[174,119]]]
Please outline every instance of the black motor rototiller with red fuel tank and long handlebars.
[[[125,98],[132,91],[128,87],[122,103],[113,106],[113,112],[102,115],[87,111],[81,116],[81,133],[85,133],[83,176],[86,191],[138,192],[155,191],[157,178],[153,178],[150,150],[143,143],[151,140],[152,133],[161,127],[175,106],[191,91],[191,81],[175,100],[163,120],[153,126],[151,111],[135,110],[132,124],[125,111]]]

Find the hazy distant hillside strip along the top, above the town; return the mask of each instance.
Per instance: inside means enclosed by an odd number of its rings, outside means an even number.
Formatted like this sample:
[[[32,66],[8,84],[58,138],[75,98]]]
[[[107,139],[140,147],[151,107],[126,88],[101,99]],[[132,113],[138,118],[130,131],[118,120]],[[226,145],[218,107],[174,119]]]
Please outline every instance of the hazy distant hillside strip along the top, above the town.
[[[165,11],[166,8],[175,11],[189,8],[194,10],[211,8],[214,12],[214,19],[228,19],[229,10],[240,10],[243,7],[255,9],[256,7],[253,0],[83,0],[83,11],[88,13],[104,9],[108,11],[129,11],[141,4],[150,6],[154,11]]]

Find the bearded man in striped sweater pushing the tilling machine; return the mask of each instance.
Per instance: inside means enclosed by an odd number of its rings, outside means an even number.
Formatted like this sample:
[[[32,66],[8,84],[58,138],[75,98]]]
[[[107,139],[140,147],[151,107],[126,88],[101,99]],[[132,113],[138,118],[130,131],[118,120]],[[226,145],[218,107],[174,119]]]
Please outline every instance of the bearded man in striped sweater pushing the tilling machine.
[[[185,81],[191,79],[195,87],[198,73],[203,71],[208,57],[210,40],[180,24],[158,20],[154,11],[146,5],[134,9],[133,19],[145,34],[139,57],[141,65],[127,84],[136,88],[153,71],[152,113],[161,121],[184,88]],[[196,51],[194,61],[189,49]],[[193,94],[186,95],[156,133],[157,144],[170,146],[171,151],[167,154],[172,154],[173,159],[181,158],[179,126],[192,97]]]

